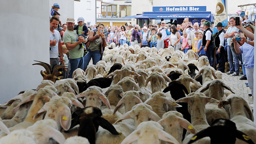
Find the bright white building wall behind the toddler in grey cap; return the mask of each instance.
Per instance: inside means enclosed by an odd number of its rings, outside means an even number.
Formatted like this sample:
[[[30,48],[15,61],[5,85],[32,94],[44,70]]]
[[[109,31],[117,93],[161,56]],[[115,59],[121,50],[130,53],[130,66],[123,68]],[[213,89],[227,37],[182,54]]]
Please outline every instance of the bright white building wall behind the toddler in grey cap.
[[[87,10],[87,1],[91,2],[91,9]],[[74,1],[74,19],[75,24],[77,24],[77,19],[79,17],[84,18],[84,22],[90,22],[90,25],[96,23],[96,0],[81,0],[80,2]]]

